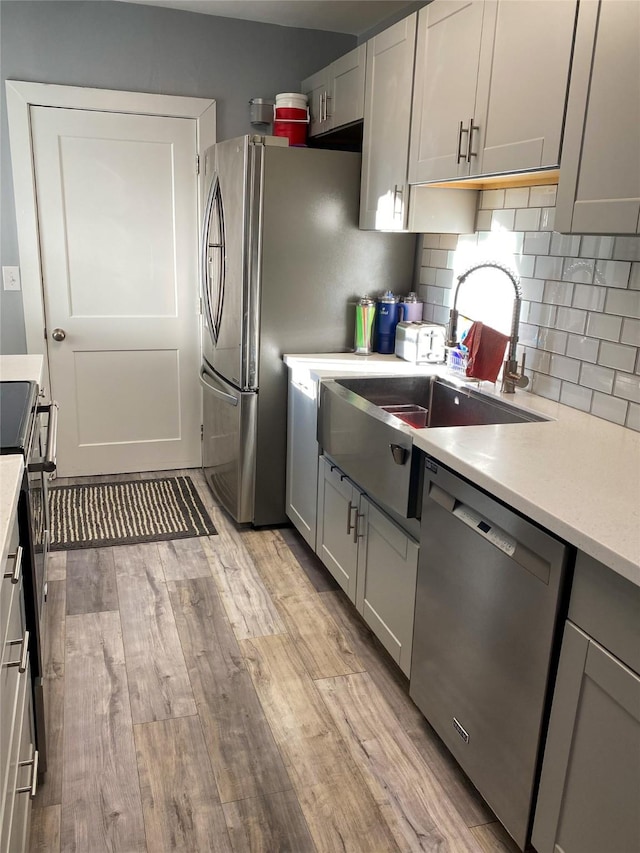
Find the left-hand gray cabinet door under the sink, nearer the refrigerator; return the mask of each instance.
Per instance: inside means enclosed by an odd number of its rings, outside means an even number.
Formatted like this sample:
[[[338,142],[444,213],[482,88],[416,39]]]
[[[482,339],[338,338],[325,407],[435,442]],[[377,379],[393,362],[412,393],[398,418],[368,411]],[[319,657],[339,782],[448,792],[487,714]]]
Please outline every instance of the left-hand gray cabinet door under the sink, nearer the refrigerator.
[[[356,600],[358,542],[355,536],[360,492],[326,456],[318,472],[317,553],[351,601]]]

